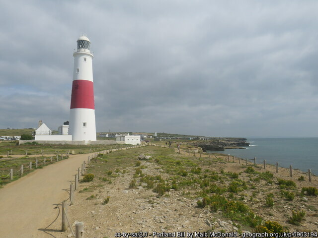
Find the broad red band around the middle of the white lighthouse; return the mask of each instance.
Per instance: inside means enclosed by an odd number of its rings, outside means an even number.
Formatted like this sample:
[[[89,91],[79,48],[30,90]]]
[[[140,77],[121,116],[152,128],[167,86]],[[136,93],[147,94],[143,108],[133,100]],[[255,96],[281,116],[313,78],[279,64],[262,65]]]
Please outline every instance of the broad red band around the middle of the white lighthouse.
[[[89,80],[74,80],[72,86],[71,109],[95,109],[93,82]]]

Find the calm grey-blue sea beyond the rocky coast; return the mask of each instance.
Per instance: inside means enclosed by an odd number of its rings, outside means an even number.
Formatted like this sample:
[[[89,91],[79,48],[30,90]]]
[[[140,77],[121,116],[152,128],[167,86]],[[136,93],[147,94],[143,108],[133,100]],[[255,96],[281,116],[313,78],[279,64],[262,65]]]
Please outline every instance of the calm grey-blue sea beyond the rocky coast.
[[[253,159],[256,163],[280,167],[300,169],[303,172],[312,170],[318,175],[318,138],[247,138],[250,146],[245,149],[226,149],[219,153],[234,155],[241,158]]]

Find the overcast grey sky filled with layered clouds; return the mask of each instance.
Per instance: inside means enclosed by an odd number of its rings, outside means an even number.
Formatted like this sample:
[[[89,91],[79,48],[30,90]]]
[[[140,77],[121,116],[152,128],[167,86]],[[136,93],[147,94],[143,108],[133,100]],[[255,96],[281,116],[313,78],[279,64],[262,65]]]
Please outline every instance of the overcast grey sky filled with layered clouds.
[[[76,41],[96,130],[318,136],[317,0],[0,0],[0,128],[69,119]]]

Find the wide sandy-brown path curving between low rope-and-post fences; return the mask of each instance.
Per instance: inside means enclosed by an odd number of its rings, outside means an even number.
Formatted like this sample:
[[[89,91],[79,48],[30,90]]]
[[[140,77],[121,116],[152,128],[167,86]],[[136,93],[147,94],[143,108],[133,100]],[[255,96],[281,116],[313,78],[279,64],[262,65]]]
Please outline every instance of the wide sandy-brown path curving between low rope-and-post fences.
[[[1,238],[52,238],[61,229],[56,204],[69,197],[70,182],[88,154],[74,155],[9,183],[0,190]],[[49,226],[49,227],[48,227]]]

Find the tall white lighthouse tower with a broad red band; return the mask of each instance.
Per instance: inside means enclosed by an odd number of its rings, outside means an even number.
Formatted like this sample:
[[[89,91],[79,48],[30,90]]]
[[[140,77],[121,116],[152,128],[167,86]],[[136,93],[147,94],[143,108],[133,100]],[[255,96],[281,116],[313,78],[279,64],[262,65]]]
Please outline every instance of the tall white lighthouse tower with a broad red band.
[[[74,141],[95,141],[95,104],[93,87],[93,55],[86,36],[77,40],[74,52],[74,72],[69,134]]]

